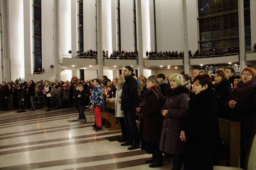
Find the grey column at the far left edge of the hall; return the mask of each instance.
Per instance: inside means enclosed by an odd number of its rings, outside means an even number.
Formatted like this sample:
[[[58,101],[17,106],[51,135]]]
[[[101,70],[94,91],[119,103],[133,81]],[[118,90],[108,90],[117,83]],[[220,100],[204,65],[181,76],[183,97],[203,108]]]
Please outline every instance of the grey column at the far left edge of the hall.
[[[10,67],[10,37],[9,37],[9,0],[1,1],[2,11],[2,40],[3,40],[3,56],[1,56],[1,82],[11,80],[11,67]],[[2,69],[3,66],[3,69]],[[2,77],[3,75],[3,77]]]

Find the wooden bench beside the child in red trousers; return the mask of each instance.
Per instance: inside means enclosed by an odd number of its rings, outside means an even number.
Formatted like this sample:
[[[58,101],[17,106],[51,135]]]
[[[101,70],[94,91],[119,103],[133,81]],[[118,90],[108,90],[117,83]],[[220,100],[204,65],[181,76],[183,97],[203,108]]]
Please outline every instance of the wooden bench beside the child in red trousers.
[[[101,117],[103,119],[102,124],[105,124],[106,128],[109,128],[108,131],[121,130],[121,125],[119,121],[117,121],[117,118],[115,117],[115,102],[113,103],[106,102],[106,108],[107,108],[107,112],[101,112]],[[111,113],[113,115],[108,115]]]

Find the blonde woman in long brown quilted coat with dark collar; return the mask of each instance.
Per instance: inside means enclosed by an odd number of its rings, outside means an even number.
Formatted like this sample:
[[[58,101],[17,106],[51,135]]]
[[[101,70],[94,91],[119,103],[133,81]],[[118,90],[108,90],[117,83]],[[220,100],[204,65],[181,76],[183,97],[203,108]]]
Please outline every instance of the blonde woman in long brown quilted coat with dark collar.
[[[161,114],[165,117],[161,132],[160,150],[173,159],[173,170],[180,170],[184,154],[184,143],[179,137],[179,127],[188,108],[189,90],[182,86],[181,74],[170,76],[170,86],[167,90],[165,104]]]

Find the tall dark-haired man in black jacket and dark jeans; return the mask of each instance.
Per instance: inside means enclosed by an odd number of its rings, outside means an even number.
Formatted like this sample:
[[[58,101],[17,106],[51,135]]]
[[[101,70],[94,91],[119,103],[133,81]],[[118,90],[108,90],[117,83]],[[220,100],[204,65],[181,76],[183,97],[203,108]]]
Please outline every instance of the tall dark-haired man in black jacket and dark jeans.
[[[139,131],[136,124],[135,111],[139,106],[137,82],[132,76],[134,69],[131,66],[124,67],[125,82],[122,87],[122,97],[117,102],[121,103],[121,114],[124,114],[124,122],[127,129],[127,141],[121,146],[132,145],[128,150],[139,148]]]

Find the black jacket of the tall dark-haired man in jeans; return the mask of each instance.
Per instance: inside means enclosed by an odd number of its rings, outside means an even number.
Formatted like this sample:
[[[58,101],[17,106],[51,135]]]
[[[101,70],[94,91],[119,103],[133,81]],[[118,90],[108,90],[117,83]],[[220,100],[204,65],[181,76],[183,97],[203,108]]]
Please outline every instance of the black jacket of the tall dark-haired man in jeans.
[[[139,96],[137,89],[137,81],[134,77],[129,75],[125,78],[124,85],[122,86],[122,111],[135,111],[139,106]]]

